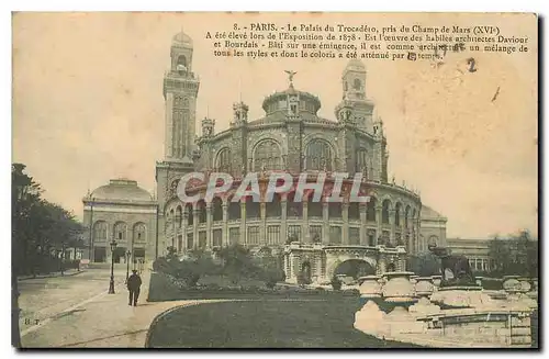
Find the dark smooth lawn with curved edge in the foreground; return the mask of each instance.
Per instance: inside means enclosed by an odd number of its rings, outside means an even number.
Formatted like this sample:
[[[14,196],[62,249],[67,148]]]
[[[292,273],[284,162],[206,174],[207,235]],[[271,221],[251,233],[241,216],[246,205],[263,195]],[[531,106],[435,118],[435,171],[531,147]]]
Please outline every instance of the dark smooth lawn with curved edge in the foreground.
[[[394,348],[352,327],[356,299],[226,302],[180,307],[149,329],[150,348]]]

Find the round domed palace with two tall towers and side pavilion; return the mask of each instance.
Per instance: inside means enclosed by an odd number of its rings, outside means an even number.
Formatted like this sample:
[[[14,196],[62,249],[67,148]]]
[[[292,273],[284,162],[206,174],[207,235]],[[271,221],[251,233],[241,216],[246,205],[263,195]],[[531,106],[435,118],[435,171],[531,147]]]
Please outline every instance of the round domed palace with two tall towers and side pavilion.
[[[192,57],[192,40],[182,32],[173,36],[171,65],[164,78],[165,156],[156,164],[156,198],[135,182],[113,180],[83,199],[85,223],[93,228],[94,261],[107,260],[109,250],[103,256],[100,248],[108,248],[111,237],[122,238],[125,248],[139,249],[146,260],[165,255],[168,247],[183,254],[242,244],[285,251],[289,278],[295,266],[306,262],[312,277],[321,281],[347,257],[372,257],[381,250],[388,254],[388,262],[372,266],[384,271],[390,265],[401,268],[400,259],[389,261],[402,258],[403,253],[425,251],[428,243],[446,245],[446,218],[423,205],[417,192],[388,178],[388,138],[376,104],[368,98],[361,61],[350,60],[343,69],[341,101],[333,119],[318,115],[321,100],[300,91],[293,83],[295,72],[287,71],[288,88],[265,98],[260,119],[249,119],[248,105],[239,101],[233,105],[228,128],[219,131],[215,120],[197,120],[200,81]],[[178,182],[191,171],[206,177],[227,172],[235,179],[233,189],[208,203],[182,203]],[[232,202],[239,181],[250,171],[259,173],[261,201]],[[328,173],[323,200],[314,202],[306,195],[294,202],[290,190],[265,201],[271,171],[295,178],[306,172],[311,181]],[[325,201],[333,172],[348,172],[350,179],[362,173],[360,190],[370,201]],[[204,191],[204,182],[187,187],[190,195]]]

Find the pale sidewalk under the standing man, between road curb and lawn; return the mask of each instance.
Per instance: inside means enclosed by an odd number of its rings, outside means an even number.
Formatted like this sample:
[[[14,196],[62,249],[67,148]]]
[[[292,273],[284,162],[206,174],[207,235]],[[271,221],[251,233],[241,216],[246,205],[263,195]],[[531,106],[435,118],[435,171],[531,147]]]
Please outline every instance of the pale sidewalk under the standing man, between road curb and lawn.
[[[115,294],[103,292],[67,308],[23,333],[23,347],[143,348],[153,319],[170,307],[200,301],[147,303],[150,274],[144,271],[137,306],[127,305],[127,290],[117,283]]]

